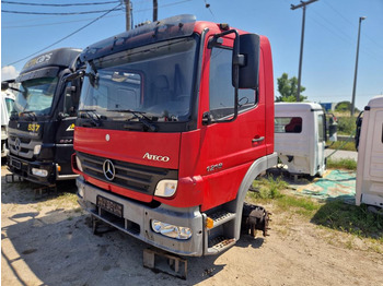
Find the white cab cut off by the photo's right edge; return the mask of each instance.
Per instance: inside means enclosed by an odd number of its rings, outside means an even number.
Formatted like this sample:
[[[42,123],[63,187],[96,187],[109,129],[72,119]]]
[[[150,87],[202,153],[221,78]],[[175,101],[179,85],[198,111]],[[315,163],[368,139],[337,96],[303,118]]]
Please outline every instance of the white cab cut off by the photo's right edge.
[[[358,121],[356,203],[383,207],[383,96],[372,98]]]

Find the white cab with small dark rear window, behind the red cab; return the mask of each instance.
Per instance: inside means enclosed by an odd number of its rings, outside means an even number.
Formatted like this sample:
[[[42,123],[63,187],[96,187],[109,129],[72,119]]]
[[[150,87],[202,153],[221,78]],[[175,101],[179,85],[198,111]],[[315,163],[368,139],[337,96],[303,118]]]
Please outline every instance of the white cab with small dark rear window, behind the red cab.
[[[323,176],[325,135],[326,121],[321,105],[275,104],[275,151],[291,175]]]

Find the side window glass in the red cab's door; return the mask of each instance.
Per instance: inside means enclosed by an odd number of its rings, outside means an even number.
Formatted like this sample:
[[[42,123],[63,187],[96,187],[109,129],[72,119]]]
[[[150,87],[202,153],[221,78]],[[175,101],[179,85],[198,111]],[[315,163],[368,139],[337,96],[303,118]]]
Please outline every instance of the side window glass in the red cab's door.
[[[234,114],[234,86],[232,85],[232,50],[213,47],[210,57],[210,114],[213,120]],[[256,105],[255,90],[239,91],[239,112]]]

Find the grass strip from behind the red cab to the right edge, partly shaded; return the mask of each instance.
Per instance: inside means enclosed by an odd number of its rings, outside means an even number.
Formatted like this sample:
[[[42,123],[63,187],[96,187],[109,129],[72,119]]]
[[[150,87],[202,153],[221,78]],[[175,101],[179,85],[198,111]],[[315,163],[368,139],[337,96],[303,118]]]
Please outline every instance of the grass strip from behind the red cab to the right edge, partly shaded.
[[[341,200],[317,201],[309,196],[297,196],[286,189],[288,183],[281,178],[262,178],[253,182],[254,192],[247,193],[247,201],[255,204],[272,204],[272,213],[279,214],[278,225],[283,226],[281,235],[287,235],[291,221],[299,217],[327,229],[328,243],[359,248],[356,239],[362,239],[365,249],[383,253],[383,216],[368,211],[365,205],[346,204]],[[279,228],[278,228],[279,229]],[[285,233],[283,233],[285,231]],[[340,236],[341,231],[350,237]]]

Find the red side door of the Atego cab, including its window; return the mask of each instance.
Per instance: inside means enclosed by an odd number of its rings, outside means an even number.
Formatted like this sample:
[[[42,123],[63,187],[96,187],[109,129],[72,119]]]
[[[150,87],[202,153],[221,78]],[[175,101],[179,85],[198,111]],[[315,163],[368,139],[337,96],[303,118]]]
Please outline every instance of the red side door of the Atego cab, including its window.
[[[236,196],[236,191],[248,167],[266,155],[265,96],[263,59],[259,67],[259,88],[239,91],[239,116],[234,112],[232,85],[232,49],[229,46],[212,47],[207,52],[204,70],[208,83],[208,112],[204,118],[211,122],[201,127],[201,148],[206,166],[201,166],[206,191],[204,208],[223,204]],[[207,80],[208,78],[208,80]]]

